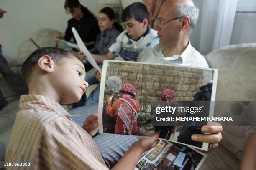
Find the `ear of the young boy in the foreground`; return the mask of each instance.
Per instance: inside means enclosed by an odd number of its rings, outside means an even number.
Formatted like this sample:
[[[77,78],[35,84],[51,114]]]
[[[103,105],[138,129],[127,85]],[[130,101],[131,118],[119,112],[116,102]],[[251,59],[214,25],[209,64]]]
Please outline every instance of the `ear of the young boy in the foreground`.
[[[49,55],[44,55],[39,58],[37,64],[40,70],[44,72],[53,72],[54,70],[54,62],[53,60],[51,60],[51,57]]]

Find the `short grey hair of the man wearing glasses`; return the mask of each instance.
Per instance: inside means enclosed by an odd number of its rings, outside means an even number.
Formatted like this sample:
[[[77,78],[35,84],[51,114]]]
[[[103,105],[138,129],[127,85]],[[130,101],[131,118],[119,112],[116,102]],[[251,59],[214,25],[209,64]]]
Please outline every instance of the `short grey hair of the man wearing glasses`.
[[[199,9],[196,6],[186,5],[186,4],[176,4],[174,9],[174,16],[175,17],[183,17],[188,16],[190,19],[189,27],[190,32],[195,28],[197,25],[199,15]]]

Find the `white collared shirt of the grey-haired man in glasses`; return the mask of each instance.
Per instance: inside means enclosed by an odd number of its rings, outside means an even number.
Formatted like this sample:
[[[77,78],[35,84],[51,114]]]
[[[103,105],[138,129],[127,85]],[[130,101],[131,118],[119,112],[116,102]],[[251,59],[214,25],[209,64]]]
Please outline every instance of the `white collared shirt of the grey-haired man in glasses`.
[[[165,57],[163,54],[163,48],[164,46],[161,44],[156,45],[153,49],[146,48],[138,56],[138,61],[209,68],[205,57],[202,56],[194,47],[192,47],[190,41],[187,48],[182,52],[181,55]]]

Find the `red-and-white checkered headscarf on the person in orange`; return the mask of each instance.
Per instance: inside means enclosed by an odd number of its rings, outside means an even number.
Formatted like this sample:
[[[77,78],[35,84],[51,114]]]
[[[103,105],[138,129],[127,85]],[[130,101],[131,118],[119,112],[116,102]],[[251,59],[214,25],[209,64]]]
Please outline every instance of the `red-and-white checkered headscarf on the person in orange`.
[[[123,84],[119,93],[119,100],[122,100],[123,103],[120,105],[118,115],[123,120],[124,132],[126,129],[128,134],[131,135],[133,128],[133,123],[136,122],[138,117],[137,104],[134,100],[136,96],[136,89],[131,84]]]

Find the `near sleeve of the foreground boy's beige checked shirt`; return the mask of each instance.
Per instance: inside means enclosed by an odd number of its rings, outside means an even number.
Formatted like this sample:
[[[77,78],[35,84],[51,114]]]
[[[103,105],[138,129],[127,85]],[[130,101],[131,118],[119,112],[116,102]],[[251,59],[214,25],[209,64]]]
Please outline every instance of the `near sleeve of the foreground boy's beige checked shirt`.
[[[67,122],[55,122],[55,127],[45,130],[45,145],[42,152],[47,153],[51,169],[88,169],[108,170],[100,163],[94,155],[81,143],[79,135],[73,130],[72,125]],[[89,145],[89,144],[88,144]]]

